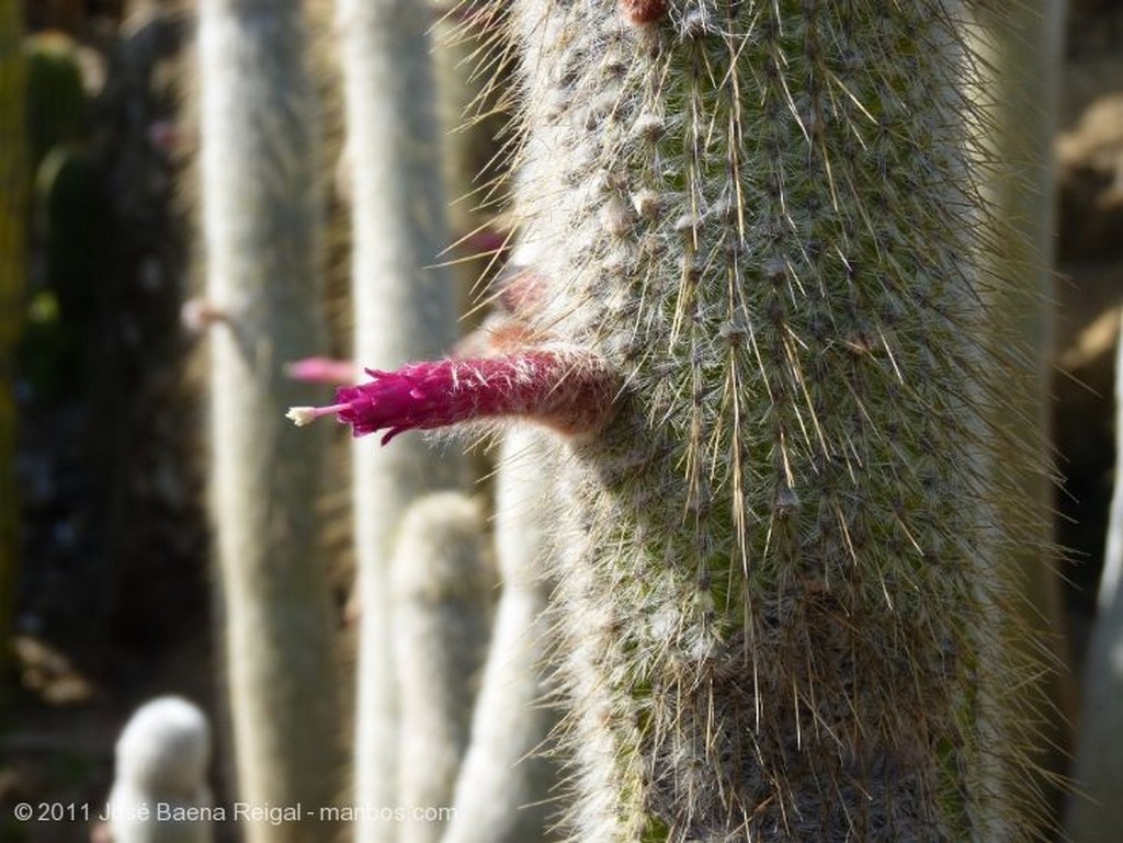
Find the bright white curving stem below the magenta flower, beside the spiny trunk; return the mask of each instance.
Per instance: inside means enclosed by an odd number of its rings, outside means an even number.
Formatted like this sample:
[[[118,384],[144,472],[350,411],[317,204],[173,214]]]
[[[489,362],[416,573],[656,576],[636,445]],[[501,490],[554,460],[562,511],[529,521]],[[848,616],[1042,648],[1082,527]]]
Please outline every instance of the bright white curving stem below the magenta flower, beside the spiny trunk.
[[[503,437],[495,478],[495,556],[503,592],[442,843],[546,839],[556,786],[544,757],[555,717],[545,705],[549,447],[542,433]]]

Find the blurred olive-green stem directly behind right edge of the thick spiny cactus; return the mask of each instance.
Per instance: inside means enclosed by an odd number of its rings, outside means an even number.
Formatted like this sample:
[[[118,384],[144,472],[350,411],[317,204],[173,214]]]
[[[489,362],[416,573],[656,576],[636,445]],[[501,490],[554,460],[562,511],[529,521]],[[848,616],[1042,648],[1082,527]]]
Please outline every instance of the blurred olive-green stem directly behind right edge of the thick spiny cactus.
[[[985,6],[985,4],[984,4]],[[999,341],[1022,349],[1031,364],[1011,370],[1008,393],[995,402],[998,460],[1016,474],[1026,494],[1001,502],[998,517],[1017,525],[1014,561],[1023,595],[1019,623],[1042,629],[1041,641],[1024,636],[1023,647],[1044,645],[1050,670],[1035,680],[1046,702],[1044,727],[1031,751],[1042,771],[1037,787],[1049,797],[1049,828],[1060,824],[1061,777],[1068,767],[1069,724],[1075,716],[1068,676],[1065,616],[1053,533],[1050,416],[1053,330],[1054,190],[1052,146],[1057,128],[1065,0],[1033,0],[977,11],[974,45],[985,67],[982,97],[994,103],[994,119],[983,139],[983,187],[993,201],[998,236],[983,251],[985,272],[1006,282],[992,302],[990,329]],[[1033,740],[1026,736],[1023,741]]]

